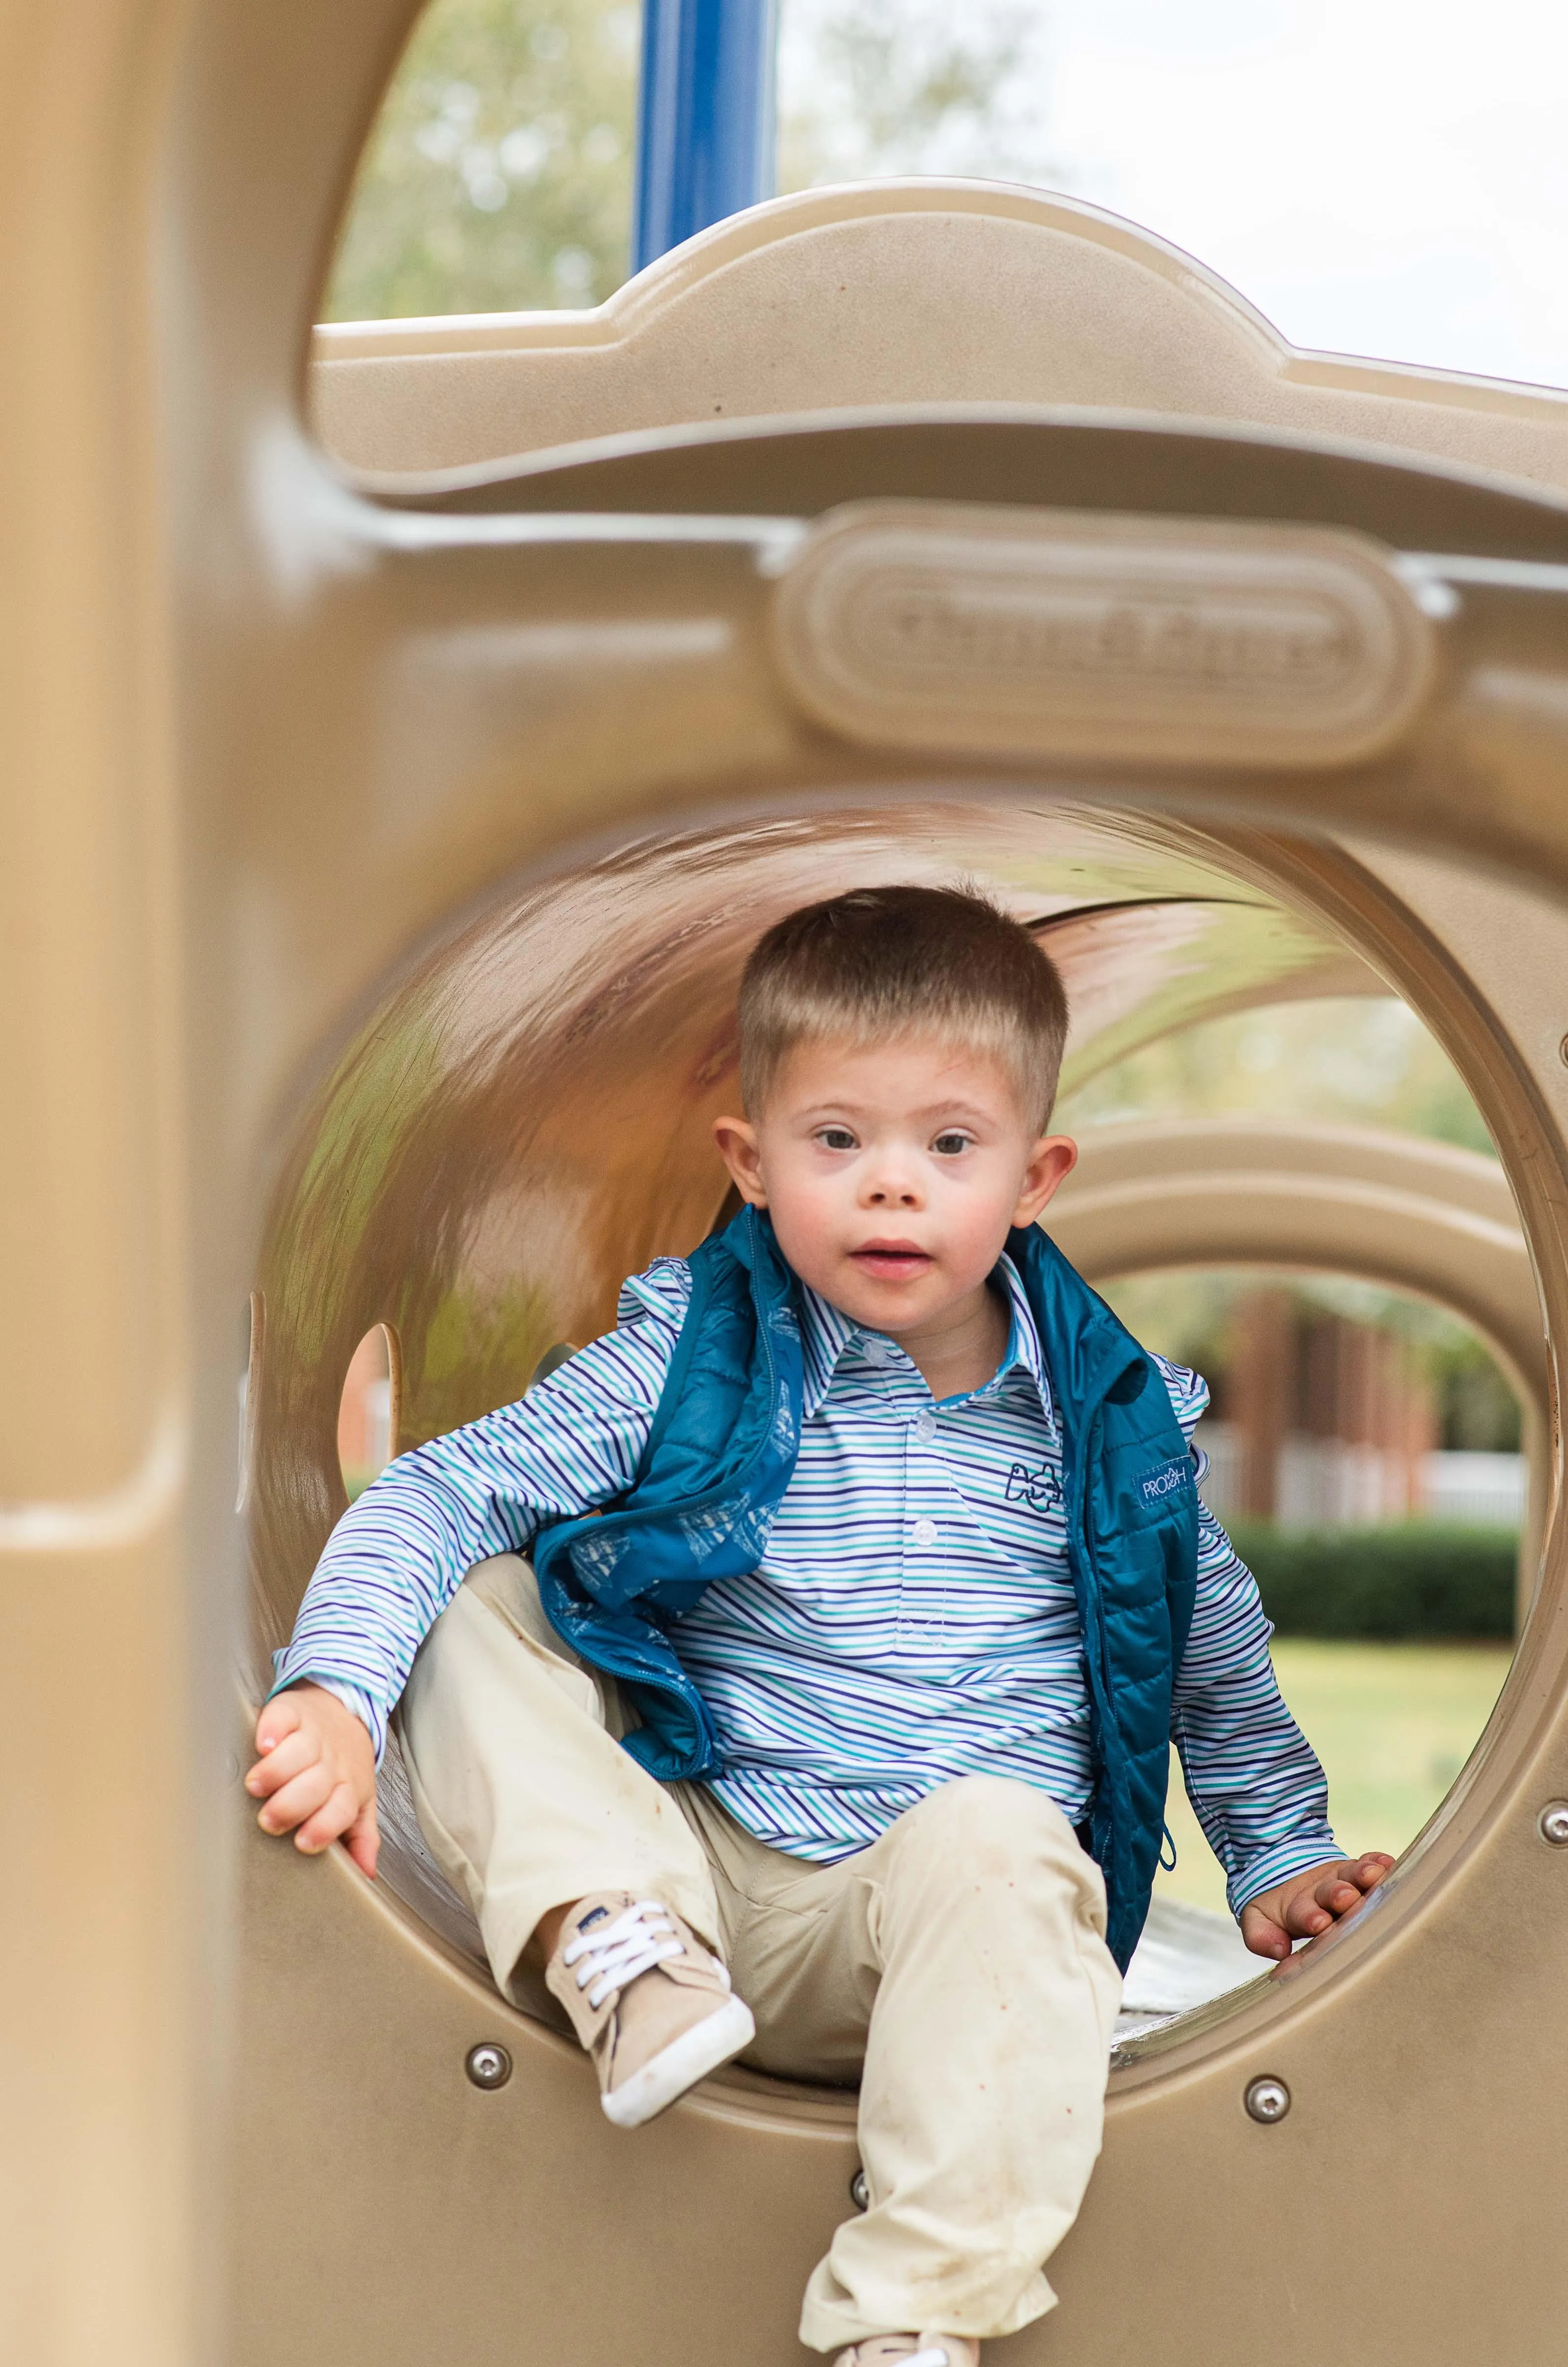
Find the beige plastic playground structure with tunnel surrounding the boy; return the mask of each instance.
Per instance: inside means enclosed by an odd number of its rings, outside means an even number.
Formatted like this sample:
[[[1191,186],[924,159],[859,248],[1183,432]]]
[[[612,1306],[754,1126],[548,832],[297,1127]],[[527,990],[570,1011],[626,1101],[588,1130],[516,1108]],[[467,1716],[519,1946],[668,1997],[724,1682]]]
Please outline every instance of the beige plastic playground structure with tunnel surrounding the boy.
[[[7,2355],[798,2358],[853,2100],[737,2071],[609,2130],[412,1849],[372,1889],[256,1834],[232,1671],[341,1505],[365,1328],[405,1442],[521,1387],[711,1221],[756,930],[966,869],[1082,1075],[1270,994],[1421,1011],[1516,1219],[1296,1129],[1101,1143],[1063,1240],[1210,1257],[1222,1205],[1459,1307],[1542,1536],[1450,1799],[1334,1946],[1123,2050],[1061,2310],[997,2355],[1549,2360],[1568,400],[1291,353],[973,185],[760,208],[595,315],[332,331],[308,386],[410,14],[0,5]]]

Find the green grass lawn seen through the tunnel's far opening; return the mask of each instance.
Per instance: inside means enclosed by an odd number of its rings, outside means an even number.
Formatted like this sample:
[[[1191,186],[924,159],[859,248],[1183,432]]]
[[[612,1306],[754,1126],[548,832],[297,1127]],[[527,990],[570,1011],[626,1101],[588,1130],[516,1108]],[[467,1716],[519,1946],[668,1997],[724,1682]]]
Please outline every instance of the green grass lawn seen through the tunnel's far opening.
[[[1279,1690],[1329,1775],[1341,1849],[1397,1853],[1414,1842],[1492,1714],[1511,1657],[1492,1643],[1274,1640]],[[1177,1868],[1158,1889],[1222,1910],[1225,1875],[1187,1804],[1175,1752],[1165,1815]]]

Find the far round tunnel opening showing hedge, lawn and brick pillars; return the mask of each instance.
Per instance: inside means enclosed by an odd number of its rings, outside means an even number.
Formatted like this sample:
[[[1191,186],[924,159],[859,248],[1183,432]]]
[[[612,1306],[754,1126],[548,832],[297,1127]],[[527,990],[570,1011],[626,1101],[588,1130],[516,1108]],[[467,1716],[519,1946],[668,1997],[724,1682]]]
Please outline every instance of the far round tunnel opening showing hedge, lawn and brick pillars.
[[[1435,1299],[1362,1276],[1163,1269],[1101,1290],[1135,1337],[1206,1375],[1199,1494],[1258,1581],[1341,1849],[1402,1856],[1476,1752],[1514,1659],[1540,1553],[1532,1406]],[[1258,1969],[1175,1744],[1165,1818],[1127,2038]]]

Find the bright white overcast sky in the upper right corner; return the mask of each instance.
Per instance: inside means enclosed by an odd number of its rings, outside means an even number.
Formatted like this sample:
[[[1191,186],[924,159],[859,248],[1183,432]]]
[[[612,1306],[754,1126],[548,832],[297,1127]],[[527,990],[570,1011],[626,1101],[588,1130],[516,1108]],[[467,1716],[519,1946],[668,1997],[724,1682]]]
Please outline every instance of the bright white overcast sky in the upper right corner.
[[[1568,386],[1563,0],[1052,0],[1078,196],[1296,343]]]

